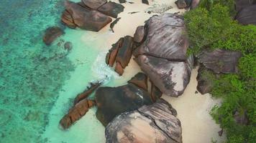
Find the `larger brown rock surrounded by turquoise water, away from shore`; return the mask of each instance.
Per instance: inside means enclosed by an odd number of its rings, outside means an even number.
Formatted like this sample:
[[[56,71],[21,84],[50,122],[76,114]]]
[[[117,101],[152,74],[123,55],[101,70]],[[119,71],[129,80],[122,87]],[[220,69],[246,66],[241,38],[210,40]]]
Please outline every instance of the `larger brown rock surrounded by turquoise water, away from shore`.
[[[50,45],[52,44],[52,41],[54,41],[63,34],[63,29],[60,29],[60,27],[58,26],[52,26],[45,30],[45,35],[43,36],[42,40],[45,42],[46,45]]]

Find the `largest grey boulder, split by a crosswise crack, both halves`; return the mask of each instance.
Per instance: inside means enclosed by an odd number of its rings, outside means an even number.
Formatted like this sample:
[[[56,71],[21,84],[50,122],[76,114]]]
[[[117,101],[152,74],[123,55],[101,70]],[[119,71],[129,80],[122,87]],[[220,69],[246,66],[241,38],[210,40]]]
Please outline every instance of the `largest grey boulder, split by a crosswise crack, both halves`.
[[[133,52],[135,61],[161,92],[178,97],[190,81],[193,65],[186,56],[189,44],[183,17],[152,16],[145,29],[145,41]]]

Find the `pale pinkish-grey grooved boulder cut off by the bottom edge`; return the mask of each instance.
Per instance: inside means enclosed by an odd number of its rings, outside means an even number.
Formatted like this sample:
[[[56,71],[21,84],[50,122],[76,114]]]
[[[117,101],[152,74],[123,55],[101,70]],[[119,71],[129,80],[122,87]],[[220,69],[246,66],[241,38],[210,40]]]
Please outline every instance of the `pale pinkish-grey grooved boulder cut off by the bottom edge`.
[[[123,113],[106,127],[106,143],[181,143],[180,121],[175,116],[175,109],[163,99]]]

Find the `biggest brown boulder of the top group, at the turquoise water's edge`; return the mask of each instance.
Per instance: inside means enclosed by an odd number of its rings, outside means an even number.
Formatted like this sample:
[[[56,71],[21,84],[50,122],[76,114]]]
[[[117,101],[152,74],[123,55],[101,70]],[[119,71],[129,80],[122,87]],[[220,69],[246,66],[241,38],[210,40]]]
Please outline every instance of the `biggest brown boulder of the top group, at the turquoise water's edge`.
[[[109,16],[101,14],[99,11],[86,9],[71,1],[65,1],[65,8],[62,21],[71,28],[79,27],[90,31],[99,31],[112,21]]]

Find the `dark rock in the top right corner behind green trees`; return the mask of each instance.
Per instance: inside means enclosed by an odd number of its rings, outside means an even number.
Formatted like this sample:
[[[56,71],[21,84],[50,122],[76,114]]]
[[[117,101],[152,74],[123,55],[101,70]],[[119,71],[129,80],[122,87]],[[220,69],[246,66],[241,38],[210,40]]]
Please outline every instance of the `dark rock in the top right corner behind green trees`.
[[[256,24],[256,0],[237,0],[236,10],[238,13],[235,19],[240,24]]]

